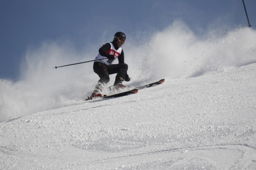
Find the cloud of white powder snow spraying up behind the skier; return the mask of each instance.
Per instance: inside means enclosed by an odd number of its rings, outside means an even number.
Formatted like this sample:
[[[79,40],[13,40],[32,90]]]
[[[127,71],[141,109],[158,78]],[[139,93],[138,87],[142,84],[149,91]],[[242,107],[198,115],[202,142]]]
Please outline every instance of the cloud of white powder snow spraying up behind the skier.
[[[256,62],[256,30],[236,28],[225,34],[217,30],[198,35],[186,23],[175,20],[147,37],[130,35],[123,46],[132,79],[129,85],[143,85],[160,77],[197,77]],[[77,51],[68,41],[46,41],[29,48],[21,62],[20,79],[0,79],[0,122],[81,104],[99,80],[93,62],[52,68],[95,59],[105,41],[97,41],[85,51]],[[111,75],[108,86],[113,85],[114,77]]]

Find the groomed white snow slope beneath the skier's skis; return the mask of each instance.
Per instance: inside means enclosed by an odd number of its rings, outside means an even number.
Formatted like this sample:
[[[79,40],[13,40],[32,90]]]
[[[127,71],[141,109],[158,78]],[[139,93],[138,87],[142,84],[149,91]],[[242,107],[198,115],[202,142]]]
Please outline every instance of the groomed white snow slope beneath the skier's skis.
[[[1,122],[0,170],[255,170],[255,122],[256,63]]]

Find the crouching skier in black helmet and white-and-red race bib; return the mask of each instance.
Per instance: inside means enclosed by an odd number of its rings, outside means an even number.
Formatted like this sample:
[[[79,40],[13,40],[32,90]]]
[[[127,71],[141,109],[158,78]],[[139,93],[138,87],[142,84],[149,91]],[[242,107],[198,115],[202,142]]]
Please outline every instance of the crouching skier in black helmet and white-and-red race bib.
[[[89,99],[102,96],[102,91],[104,86],[109,82],[110,74],[116,74],[116,79],[113,88],[118,90],[120,88],[125,88],[122,82],[130,81],[130,77],[127,74],[128,65],[124,61],[124,51],[122,50],[122,45],[126,40],[126,36],[123,32],[117,32],[114,35],[112,42],[108,42],[99,48],[99,54],[96,59],[100,59],[93,63],[93,71],[98,74],[99,81],[95,86],[95,89]],[[118,58],[118,64],[112,64],[115,59]]]

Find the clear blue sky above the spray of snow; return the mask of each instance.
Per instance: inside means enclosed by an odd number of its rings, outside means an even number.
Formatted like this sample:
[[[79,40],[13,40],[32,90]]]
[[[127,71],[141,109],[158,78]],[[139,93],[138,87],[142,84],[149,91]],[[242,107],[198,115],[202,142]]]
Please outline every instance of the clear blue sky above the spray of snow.
[[[256,1],[244,2],[255,28]],[[18,80],[26,51],[42,42],[68,40],[76,51],[90,50],[90,44],[100,46],[102,38],[108,42],[117,31],[129,40],[177,19],[198,36],[248,26],[242,0],[1,0],[0,79]]]

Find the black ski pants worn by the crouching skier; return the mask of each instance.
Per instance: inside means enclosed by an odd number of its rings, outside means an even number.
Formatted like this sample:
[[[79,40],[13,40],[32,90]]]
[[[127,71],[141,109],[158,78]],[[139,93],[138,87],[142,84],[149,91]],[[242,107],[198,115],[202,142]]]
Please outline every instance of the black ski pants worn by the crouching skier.
[[[116,74],[116,77],[122,77],[125,79],[127,75],[128,65],[125,63],[105,65],[101,62],[93,63],[93,71],[98,74],[99,81],[107,84],[110,80],[109,75]]]

